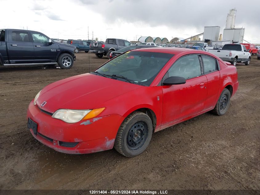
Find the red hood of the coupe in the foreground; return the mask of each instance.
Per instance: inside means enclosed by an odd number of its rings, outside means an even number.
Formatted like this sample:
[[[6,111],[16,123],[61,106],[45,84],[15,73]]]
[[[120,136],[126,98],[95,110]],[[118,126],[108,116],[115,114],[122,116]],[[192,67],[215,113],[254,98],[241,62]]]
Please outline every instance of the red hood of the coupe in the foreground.
[[[44,87],[36,103],[41,109],[51,113],[61,108],[102,108],[107,100],[140,87],[142,86],[87,73]],[[46,104],[41,106],[44,101]]]

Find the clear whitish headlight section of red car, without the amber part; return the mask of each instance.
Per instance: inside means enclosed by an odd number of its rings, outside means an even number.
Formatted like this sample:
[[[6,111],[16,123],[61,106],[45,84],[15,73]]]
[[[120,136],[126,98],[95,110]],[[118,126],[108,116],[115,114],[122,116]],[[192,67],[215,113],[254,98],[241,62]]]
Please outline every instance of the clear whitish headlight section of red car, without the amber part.
[[[66,123],[77,123],[82,120],[91,110],[68,110],[59,109],[52,115],[52,118],[63,120]]]

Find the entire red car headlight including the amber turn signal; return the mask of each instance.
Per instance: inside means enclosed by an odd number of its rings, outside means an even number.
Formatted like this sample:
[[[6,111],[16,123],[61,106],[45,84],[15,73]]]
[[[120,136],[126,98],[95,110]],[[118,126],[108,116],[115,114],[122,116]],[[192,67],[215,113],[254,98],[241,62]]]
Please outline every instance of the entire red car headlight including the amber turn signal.
[[[80,120],[92,119],[98,116],[105,108],[93,110],[69,110],[59,109],[52,115],[52,118],[63,120],[66,123],[77,123]]]

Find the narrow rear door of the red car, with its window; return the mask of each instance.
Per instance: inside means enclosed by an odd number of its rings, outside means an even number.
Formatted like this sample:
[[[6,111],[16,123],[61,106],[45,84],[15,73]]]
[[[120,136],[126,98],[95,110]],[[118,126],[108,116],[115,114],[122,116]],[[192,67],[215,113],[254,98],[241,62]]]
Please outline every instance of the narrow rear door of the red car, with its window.
[[[217,59],[208,56],[201,55],[203,63],[203,72],[207,77],[207,98],[205,101],[204,110],[215,106],[215,102],[218,99],[218,90],[220,85],[220,73]]]

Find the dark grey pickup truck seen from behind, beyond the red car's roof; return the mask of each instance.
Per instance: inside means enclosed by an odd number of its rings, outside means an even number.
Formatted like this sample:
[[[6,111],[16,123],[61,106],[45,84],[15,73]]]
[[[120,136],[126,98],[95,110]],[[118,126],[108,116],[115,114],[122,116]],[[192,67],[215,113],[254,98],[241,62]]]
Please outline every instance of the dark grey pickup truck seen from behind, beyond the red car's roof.
[[[110,59],[109,55],[112,51],[117,51],[123,47],[129,46],[131,43],[124,39],[106,39],[105,43],[90,43],[90,53],[96,54],[98,58],[102,58],[106,55]]]

